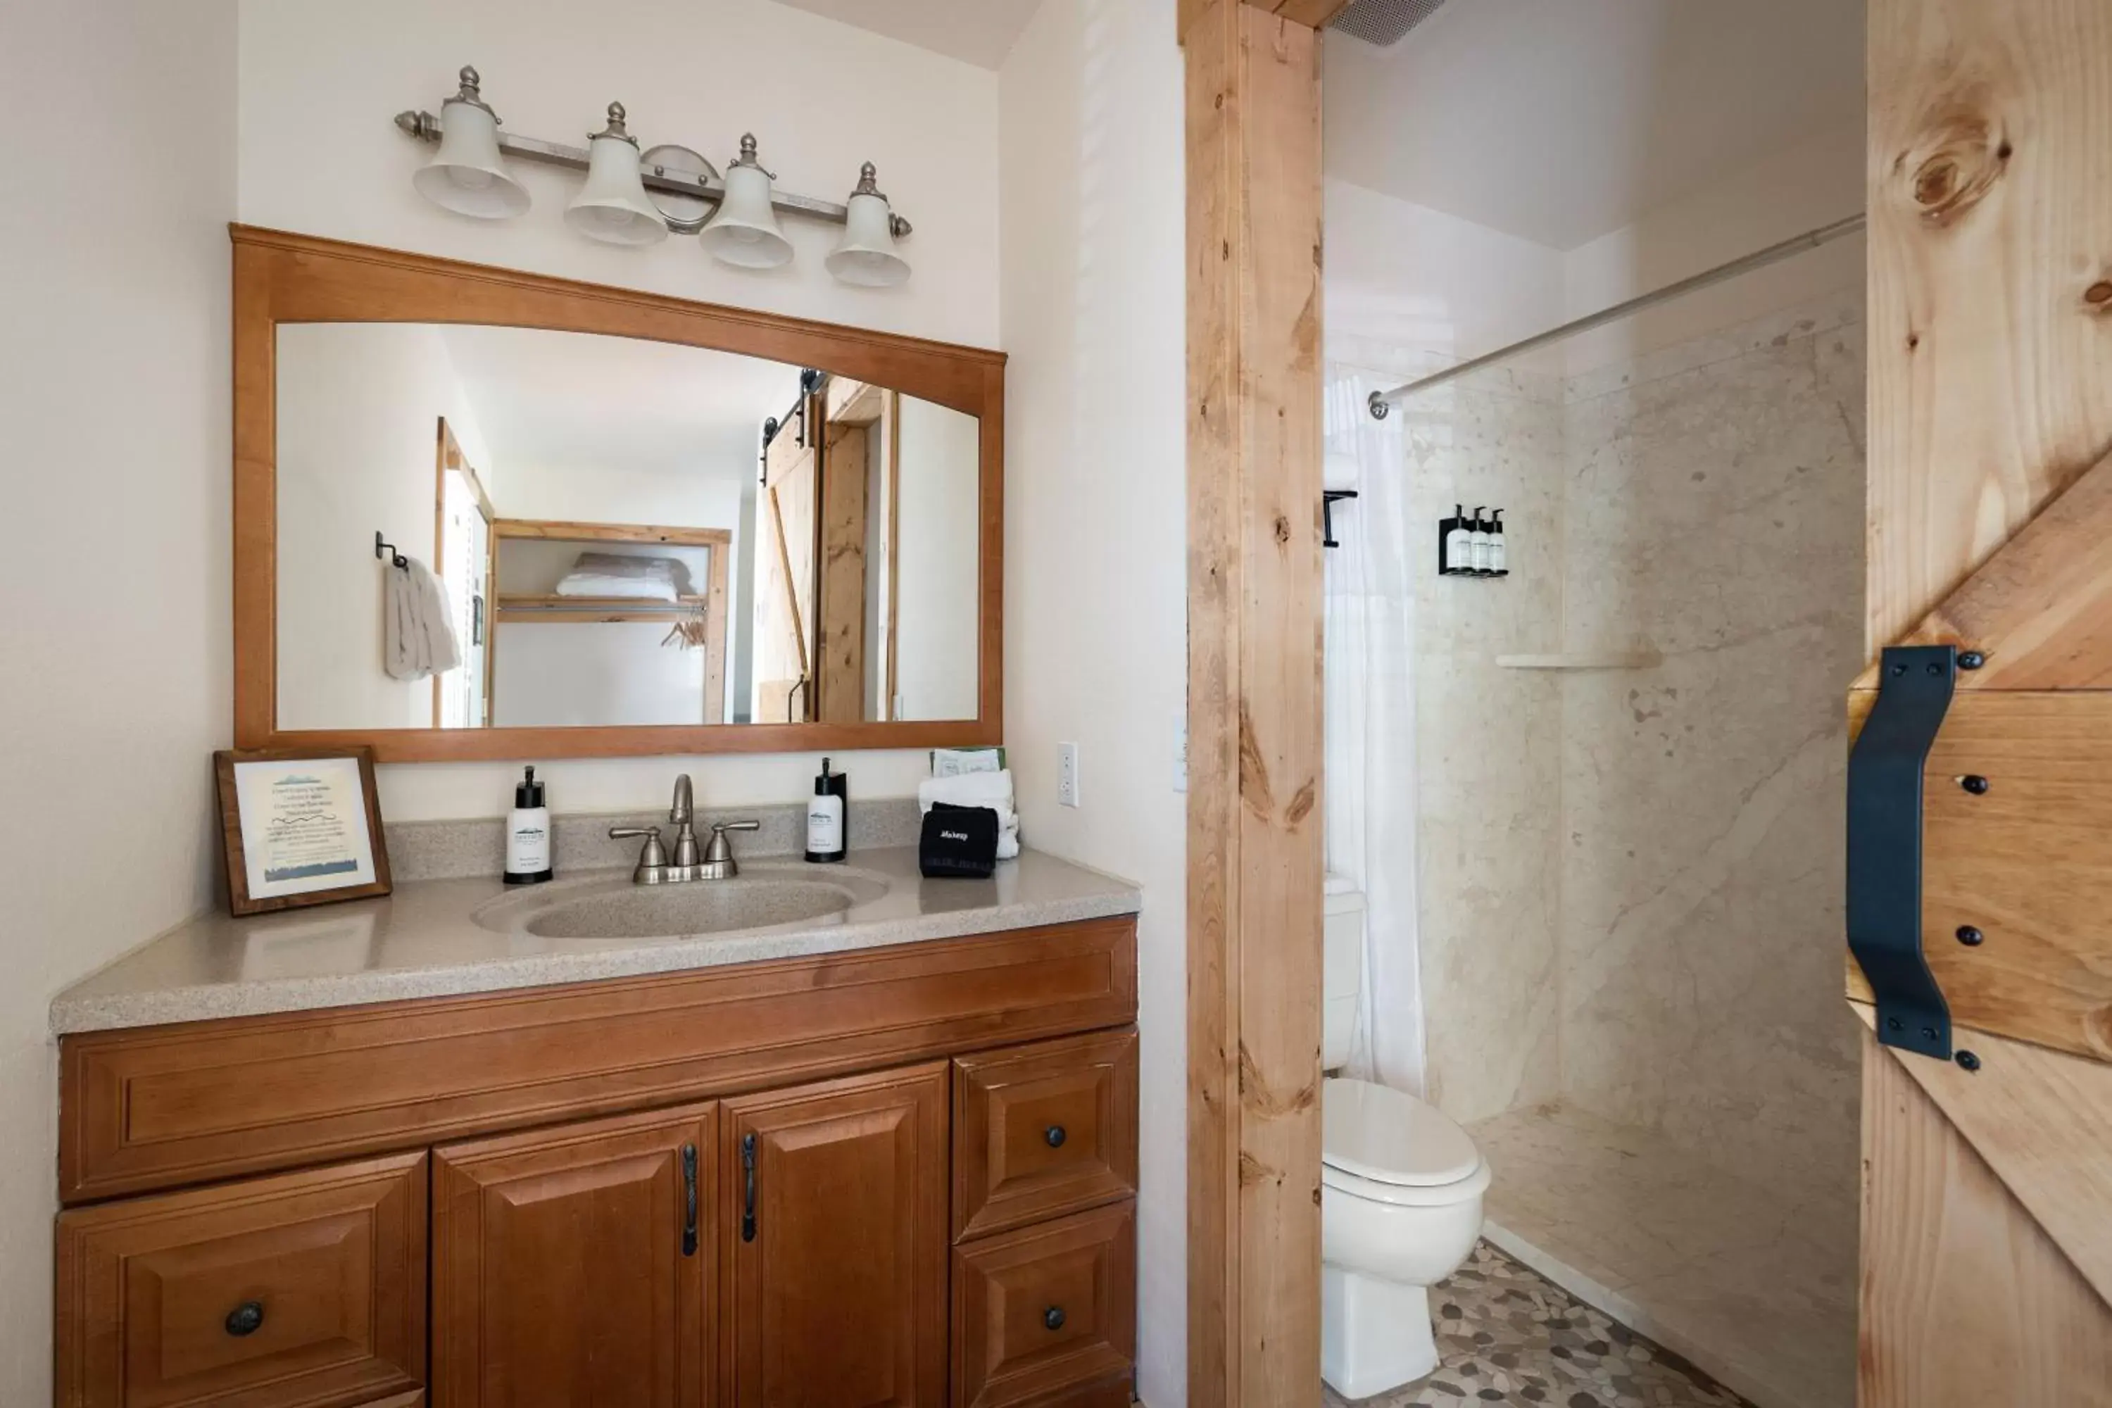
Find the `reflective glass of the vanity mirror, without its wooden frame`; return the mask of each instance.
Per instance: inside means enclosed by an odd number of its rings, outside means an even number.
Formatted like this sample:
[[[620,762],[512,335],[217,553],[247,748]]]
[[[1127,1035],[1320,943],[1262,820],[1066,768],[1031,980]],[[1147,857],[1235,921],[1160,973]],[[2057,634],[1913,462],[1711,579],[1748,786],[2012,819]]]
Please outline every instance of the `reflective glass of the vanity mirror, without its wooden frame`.
[[[596,334],[277,338],[279,728],[976,718],[974,416]]]

